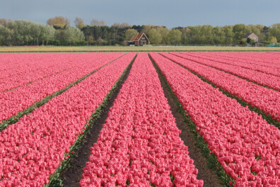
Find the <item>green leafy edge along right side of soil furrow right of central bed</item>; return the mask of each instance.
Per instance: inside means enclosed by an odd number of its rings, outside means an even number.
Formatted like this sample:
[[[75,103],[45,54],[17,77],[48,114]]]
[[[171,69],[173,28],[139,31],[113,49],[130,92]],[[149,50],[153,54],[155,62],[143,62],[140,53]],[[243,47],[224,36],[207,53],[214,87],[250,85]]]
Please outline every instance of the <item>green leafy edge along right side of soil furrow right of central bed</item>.
[[[194,139],[197,140],[196,146],[201,150],[202,155],[206,158],[207,167],[215,172],[215,174],[218,176],[218,179],[221,180],[220,181],[221,185],[227,186],[227,187],[234,186],[234,184],[235,184],[234,179],[231,176],[229,176],[228,174],[226,174],[226,171],[224,171],[223,166],[218,162],[216,155],[213,154],[213,152],[211,152],[211,150],[208,148],[209,145],[206,143],[206,141],[203,139],[203,137],[201,135],[199,135],[199,132],[197,132],[197,129],[196,129],[197,125],[194,124],[194,122],[191,120],[188,113],[185,112],[185,110],[183,109],[182,104],[180,103],[177,96],[175,96],[175,94],[173,93],[173,90],[171,89],[170,85],[168,84],[168,81],[165,78],[165,76],[163,75],[163,72],[161,72],[161,69],[159,69],[158,65],[153,60],[151,55],[148,55],[148,56],[150,57],[150,59],[153,63],[153,66],[156,67],[156,70],[159,72],[159,76],[165,82],[165,85],[167,86],[168,91],[170,92],[175,103],[177,104],[177,108],[179,109],[185,122],[189,126],[190,132],[193,133]],[[233,182],[232,186],[229,184],[229,181]]]

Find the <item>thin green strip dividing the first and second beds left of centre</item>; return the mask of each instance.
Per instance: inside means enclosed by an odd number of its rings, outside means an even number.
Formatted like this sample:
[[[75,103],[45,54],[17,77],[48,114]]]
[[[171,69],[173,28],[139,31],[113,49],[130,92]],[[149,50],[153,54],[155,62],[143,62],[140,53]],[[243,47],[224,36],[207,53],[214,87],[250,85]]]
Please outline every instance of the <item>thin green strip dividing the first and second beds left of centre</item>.
[[[124,54],[126,55],[126,54]],[[124,55],[122,55],[121,57],[123,57]],[[119,58],[115,60],[118,60]],[[66,86],[64,89],[56,91],[54,93],[52,93],[51,95],[45,96],[45,98],[43,98],[40,101],[35,102],[33,105],[28,106],[28,108],[26,108],[26,110],[23,111],[19,111],[16,115],[11,116],[10,118],[8,118],[7,120],[3,120],[2,123],[0,124],[0,132],[4,129],[6,129],[8,127],[8,125],[12,125],[14,123],[17,123],[18,120],[20,118],[23,117],[23,115],[28,115],[29,113],[32,113],[36,108],[39,108],[40,106],[45,105],[45,103],[47,103],[48,101],[50,101],[52,98],[59,96],[60,94],[64,93],[64,91],[70,89],[72,86],[74,86],[75,84],[78,84],[79,82],[83,81],[83,79],[86,79],[87,77],[91,76],[91,74],[94,74],[95,72],[97,72],[99,69],[107,66],[108,64],[114,62],[115,60],[112,60],[111,62],[108,62],[107,64],[104,64],[101,67],[98,67],[98,69],[93,70],[93,72],[86,74],[85,76],[83,76],[81,79],[78,79],[74,82],[72,82],[71,84],[69,84],[68,86]]]

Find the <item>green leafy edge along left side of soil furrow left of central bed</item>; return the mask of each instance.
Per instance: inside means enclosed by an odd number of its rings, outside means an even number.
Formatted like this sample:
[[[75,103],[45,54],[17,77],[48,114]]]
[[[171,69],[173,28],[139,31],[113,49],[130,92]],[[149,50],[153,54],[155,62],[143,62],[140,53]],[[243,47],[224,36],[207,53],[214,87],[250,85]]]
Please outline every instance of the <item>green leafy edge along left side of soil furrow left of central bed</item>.
[[[88,119],[86,124],[83,126],[83,132],[80,135],[78,135],[77,140],[74,142],[73,145],[71,145],[71,147],[69,147],[69,152],[68,153],[65,152],[64,158],[68,158],[68,159],[64,159],[62,161],[62,163],[59,164],[59,167],[56,169],[56,171],[54,171],[54,174],[49,176],[49,183],[46,184],[45,187],[62,186],[63,179],[61,178],[61,176],[62,176],[63,172],[66,169],[68,169],[69,167],[71,167],[71,160],[74,159],[74,157],[77,157],[76,152],[78,152],[78,150],[83,145],[83,142],[86,140],[86,135],[88,134],[88,132],[90,132],[91,128],[93,128],[94,122],[96,120],[98,120],[98,118],[100,118],[100,115],[103,113],[104,109],[106,108],[107,103],[110,101],[110,98],[111,98],[112,94],[114,93],[115,89],[117,88],[117,86],[119,86],[119,84],[122,81],[125,74],[127,74],[129,69],[132,67],[132,64],[133,64],[136,56],[137,55],[134,56],[134,58],[129,63],[127,68],[124,69],[124,72],[122,72],[122,75],[119,77],[119,79],[117,79],[114,86],[112,86],[112,89],[110,89],[107,96],[105,96],[105,98],[104,98],[103,102],[100,104],[100,106],[98,108],[96,108],[95,111],[92,113],[91,117]]]

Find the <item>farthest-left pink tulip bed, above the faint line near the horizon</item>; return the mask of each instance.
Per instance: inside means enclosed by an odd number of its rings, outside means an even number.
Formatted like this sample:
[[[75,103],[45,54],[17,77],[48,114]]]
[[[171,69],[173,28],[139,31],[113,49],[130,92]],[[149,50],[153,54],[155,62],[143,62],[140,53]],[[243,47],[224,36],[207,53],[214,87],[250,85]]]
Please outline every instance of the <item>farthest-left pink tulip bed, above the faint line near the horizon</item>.
[[[4,53],[1,54],[0,60],[0,93],[78,67],[81,60],[114,55],[114,53]]]

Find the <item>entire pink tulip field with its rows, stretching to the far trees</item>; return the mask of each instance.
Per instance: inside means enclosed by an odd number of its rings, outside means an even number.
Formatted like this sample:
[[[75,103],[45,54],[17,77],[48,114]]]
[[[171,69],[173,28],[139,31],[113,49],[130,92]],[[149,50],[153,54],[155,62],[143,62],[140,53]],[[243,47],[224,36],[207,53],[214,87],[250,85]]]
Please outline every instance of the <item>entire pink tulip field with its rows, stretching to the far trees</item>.
[[[279,52],[1,53],[0,64],[0,186],[66,186],[105,108],[72,186],[280,186]]]

